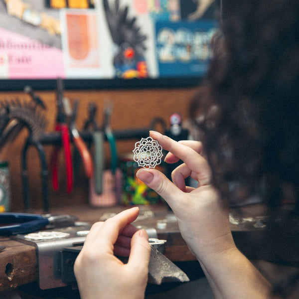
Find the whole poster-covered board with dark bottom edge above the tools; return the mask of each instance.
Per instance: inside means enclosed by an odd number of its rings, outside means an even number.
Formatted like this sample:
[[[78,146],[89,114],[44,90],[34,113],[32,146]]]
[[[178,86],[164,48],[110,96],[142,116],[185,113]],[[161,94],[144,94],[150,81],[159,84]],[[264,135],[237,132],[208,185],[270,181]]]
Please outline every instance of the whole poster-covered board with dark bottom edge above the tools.
[[[195,86],[220,0],[0,0],[0,91]]]

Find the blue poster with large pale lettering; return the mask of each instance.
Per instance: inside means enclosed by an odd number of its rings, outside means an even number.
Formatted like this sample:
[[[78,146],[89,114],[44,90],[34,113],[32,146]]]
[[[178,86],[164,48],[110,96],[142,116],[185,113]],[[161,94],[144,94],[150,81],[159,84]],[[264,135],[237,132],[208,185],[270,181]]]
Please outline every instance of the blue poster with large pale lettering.
[[[217,22],[157,21],[155,48],[160,77],[194,77],[206,73],[211,59],[210,41]]]

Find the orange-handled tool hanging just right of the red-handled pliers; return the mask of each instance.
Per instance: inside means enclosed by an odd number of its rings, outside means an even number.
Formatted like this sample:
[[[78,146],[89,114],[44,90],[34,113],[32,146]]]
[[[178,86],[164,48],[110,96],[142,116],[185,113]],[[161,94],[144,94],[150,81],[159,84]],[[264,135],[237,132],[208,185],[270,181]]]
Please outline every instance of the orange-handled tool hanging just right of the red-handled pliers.
[[[70,132],[73,137],[73,142],[81,155],[85,174],[88,178],[90,178],[93,173],[92,157],[91,157],[91,154],[90,154],[87,146],[85,145],[83,139],[80,137],[80,134],[75,126],[75,119],[77,116],[78,104],[79,104],[79,102],[78,102],[78,100],[76,100],[74,102],[74,107],[73,107],[73,112],[72,112],[71,119],[70,119],[69,128],[70,128]]]

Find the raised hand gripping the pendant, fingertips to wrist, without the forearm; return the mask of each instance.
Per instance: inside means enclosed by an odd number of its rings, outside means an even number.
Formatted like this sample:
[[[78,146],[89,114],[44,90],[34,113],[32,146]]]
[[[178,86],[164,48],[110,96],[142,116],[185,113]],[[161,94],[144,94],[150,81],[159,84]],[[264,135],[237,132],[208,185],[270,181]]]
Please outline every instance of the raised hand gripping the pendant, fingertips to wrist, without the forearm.
[[[173,182],[155,169],[140,169],[137,176],[169,204],[189,248],[200,261],[217,252],[234,249],[228,207],[211,185],[211,169],[200,154],[201,143],[175,142],[153,131],[150,136],[169,151],[166,162],[181,159],[184,163],[173,170]],[[198,181],[197,188],[185,185],[184,179],[188,176]]]

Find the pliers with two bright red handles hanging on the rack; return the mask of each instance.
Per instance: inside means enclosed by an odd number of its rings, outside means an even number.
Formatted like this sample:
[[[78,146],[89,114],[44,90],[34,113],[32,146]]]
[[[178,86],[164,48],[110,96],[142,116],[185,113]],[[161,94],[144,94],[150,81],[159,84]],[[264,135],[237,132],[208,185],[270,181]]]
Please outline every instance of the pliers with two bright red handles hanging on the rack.
[[[62,145],[65,157],[65,167],[66,167],[66,189],[70,193],[73,188],[73,165],[70,147],[70,136],[69,128],[65,122],[65,113],[63,108],[63,82],[61,78],[57,79],[57,118],[55,131],[61,132]],[[55,146],[51,155],[51,167],[52,167],[52,185],[55,191],[58,190],[58,151],[59,146]]]

